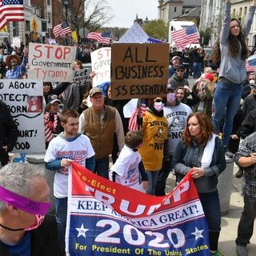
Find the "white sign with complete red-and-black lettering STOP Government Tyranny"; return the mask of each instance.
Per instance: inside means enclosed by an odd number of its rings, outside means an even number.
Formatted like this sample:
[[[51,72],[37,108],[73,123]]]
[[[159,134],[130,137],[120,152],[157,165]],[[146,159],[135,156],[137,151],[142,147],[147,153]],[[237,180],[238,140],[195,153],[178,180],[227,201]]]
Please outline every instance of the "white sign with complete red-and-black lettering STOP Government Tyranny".
[[[54,46],[30,42],[29,79],[43,82],[72,82],[75,46]]]

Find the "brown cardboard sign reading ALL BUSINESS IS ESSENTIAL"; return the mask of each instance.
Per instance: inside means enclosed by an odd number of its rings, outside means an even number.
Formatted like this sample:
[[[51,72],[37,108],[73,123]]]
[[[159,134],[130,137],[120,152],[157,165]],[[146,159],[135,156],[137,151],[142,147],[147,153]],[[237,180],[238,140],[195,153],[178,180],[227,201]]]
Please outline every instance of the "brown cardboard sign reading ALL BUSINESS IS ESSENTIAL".
[[[168,44],[116,44],[111,63],[113,99],[166,97]]]

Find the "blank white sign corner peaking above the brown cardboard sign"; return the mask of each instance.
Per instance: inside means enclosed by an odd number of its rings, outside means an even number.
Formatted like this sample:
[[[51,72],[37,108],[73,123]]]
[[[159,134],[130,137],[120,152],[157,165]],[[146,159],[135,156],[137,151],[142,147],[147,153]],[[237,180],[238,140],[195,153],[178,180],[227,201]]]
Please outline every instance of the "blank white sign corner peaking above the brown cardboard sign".
[[[142,27],[139,26],[137,22],[134,22],[134,25],[126,31],[122,38],[119,39],[118,43],[141,43],[146,42],[148,38],[149,36]]]

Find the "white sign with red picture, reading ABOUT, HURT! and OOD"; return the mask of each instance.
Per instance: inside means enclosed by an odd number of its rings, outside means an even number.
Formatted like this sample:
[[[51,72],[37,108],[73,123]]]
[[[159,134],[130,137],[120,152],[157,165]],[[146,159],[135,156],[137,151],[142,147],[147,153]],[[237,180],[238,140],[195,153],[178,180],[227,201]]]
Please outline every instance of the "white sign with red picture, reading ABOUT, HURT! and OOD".
[[[27,154],[44,152],[42,81],[2,79],[0,90],[0,100],[6,103],[18,126],[18,141],[13,152]]]

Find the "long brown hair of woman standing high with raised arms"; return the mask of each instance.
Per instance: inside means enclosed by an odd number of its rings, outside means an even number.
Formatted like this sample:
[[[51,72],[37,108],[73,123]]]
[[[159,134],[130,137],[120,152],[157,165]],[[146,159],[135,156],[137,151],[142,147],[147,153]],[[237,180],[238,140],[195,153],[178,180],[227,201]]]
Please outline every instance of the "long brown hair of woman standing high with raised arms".
[[[246,38],[245,35],[242,32],[242,27],[240,22],[238,21],[237,18],[231,18],[230,22],[238,22],[238,26],[240,29],[240,32],[238,34],[238,36],[234,36],[233,34],[229,34],[228,36],[228,48],[229,48],[229,53],[232,57],[237,57],[238,53],[239,53],[239,46],[241,44],[242,46],[242,52],[241,52],[241,59],[242,60],[246,60],[247,55],[248,55],[248,48],[246,46]],[[239,44],[240,42],[240,44]],[[214,50],[213,50],[213,54],[212,54],[212,60],[213,62],[219,63],[221,62],[221,50],[220,50],[220,40],[219,38],[217,39],[217,41],[214,43]]]

